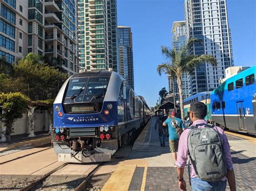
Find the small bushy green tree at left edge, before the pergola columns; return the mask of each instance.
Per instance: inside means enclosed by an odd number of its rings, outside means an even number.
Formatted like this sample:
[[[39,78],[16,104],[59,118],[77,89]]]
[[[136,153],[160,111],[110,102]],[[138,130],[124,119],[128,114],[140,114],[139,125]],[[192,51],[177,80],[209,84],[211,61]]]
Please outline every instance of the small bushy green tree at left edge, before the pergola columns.
[[[5,124],[5,136],[10,140],[12,126],[18,118],[22,118],[22,114],[28,106],[30,100],[27,96],[21,93],[1,93],[0,105],[2,106],[3,114],[2,123]]]

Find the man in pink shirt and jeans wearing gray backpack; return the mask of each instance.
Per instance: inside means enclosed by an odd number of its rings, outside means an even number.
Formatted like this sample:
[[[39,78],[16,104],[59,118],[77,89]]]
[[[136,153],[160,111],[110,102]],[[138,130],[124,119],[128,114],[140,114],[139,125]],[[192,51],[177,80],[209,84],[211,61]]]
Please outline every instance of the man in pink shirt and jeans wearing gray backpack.
[[[230,145],[224,131],[218,126],[207,124],[204,120],[207,107],[202,102],[191,103],[189,115],[193,124],[179,139],[179,189],[186,190],[183,174],[189,155],[192,190],[222,191],[226,189],[227,180],[230,189],[236,190]]]

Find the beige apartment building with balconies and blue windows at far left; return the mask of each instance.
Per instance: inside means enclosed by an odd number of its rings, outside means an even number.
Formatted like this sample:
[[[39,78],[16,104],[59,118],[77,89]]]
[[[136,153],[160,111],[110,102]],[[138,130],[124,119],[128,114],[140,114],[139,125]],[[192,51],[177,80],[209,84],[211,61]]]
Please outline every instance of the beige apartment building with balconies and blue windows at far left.
[[[0,56],[12,63],[33,52],[63,61],[68,75],[78,72],[75,0],[4,0],[0,6]]]

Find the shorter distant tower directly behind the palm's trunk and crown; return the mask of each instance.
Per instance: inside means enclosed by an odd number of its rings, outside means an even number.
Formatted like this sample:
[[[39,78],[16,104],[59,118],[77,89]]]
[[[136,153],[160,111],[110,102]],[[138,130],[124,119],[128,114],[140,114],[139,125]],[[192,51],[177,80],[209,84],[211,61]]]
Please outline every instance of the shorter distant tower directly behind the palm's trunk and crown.
[[[172,48],[175,51],[181,51],[183,46],[186,44],[186,33],[185,33],[185,21],[173,22],[172,25]],[[173,77],[168,76],[169,79],[169,90],[171,93],[176,92],[178,93],[178,85],[177,80]],[[191,81],[190,75],[185,73],[181,75],[181,82],[183,85],[183,98],[188,98],[191,96]],[[173,89],[174,88],[174,89]],[[178,96],[176,97],[178,98]]]

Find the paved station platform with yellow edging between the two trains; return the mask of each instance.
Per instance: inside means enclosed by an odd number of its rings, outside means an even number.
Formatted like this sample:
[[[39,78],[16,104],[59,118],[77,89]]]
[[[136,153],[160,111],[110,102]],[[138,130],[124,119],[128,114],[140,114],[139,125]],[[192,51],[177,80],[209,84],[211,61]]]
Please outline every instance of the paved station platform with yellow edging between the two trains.
[[[166,138],[165,147],[160,146],[155,123],[156,118],[152,118],[145,126],[129,156],[114,169],[102,190],[179,190],[169,140]],[[237,190],[256,190],[256,139],[230,132],[226,135],[231,146]],[[187,190],[191,190],[187,167],[184,180]]]

